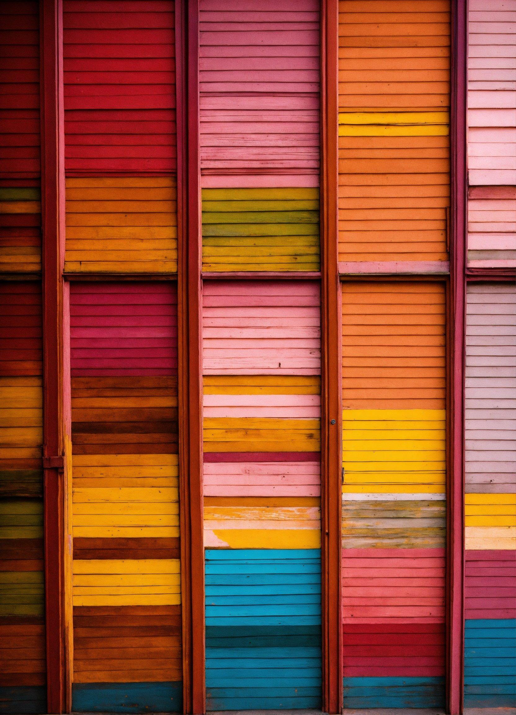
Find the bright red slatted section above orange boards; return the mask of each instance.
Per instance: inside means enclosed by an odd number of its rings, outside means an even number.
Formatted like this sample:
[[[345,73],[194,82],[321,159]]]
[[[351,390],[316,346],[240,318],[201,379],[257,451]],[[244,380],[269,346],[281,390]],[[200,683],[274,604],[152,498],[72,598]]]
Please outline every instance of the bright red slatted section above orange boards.
[[[66,172],[174,174],[174,2],[64,1]]]

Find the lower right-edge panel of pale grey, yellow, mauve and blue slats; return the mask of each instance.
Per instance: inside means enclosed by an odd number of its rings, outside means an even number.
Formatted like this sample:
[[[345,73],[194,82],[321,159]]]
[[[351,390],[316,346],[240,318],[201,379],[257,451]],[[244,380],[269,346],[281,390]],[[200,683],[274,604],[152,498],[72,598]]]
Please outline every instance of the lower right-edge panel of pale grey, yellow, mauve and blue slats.
[[[467,290],[465,704],[516,704],[516,289]]]

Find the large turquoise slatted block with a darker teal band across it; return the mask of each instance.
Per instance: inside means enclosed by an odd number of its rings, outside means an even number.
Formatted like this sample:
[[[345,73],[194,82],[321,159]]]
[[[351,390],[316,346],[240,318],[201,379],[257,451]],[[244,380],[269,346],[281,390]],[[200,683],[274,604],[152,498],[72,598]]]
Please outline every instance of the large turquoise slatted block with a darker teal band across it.
[[[206,551],[207,710],[319,709],[318,549]]]

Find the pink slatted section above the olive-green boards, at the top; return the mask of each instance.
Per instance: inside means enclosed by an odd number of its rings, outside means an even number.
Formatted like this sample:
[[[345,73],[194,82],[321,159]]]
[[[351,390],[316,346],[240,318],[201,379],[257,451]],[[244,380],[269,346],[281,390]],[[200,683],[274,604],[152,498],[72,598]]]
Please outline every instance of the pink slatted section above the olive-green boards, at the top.
[[[200,4],[201,169],[252,183],[319,173],[319,4]],[[275,174],[293,174],[292,182]],[[299,174],[299,178],[296,177]],[[228,186],[209,184],[203,186]]]

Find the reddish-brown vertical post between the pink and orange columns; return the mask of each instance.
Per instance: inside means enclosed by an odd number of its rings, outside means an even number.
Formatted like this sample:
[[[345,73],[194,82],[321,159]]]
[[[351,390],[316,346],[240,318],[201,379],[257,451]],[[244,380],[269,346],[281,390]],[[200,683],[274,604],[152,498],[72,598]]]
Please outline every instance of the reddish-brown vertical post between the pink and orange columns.
[[[322,709],[342,708],[342,340],[338,230],[338,0],[321,11]]]

